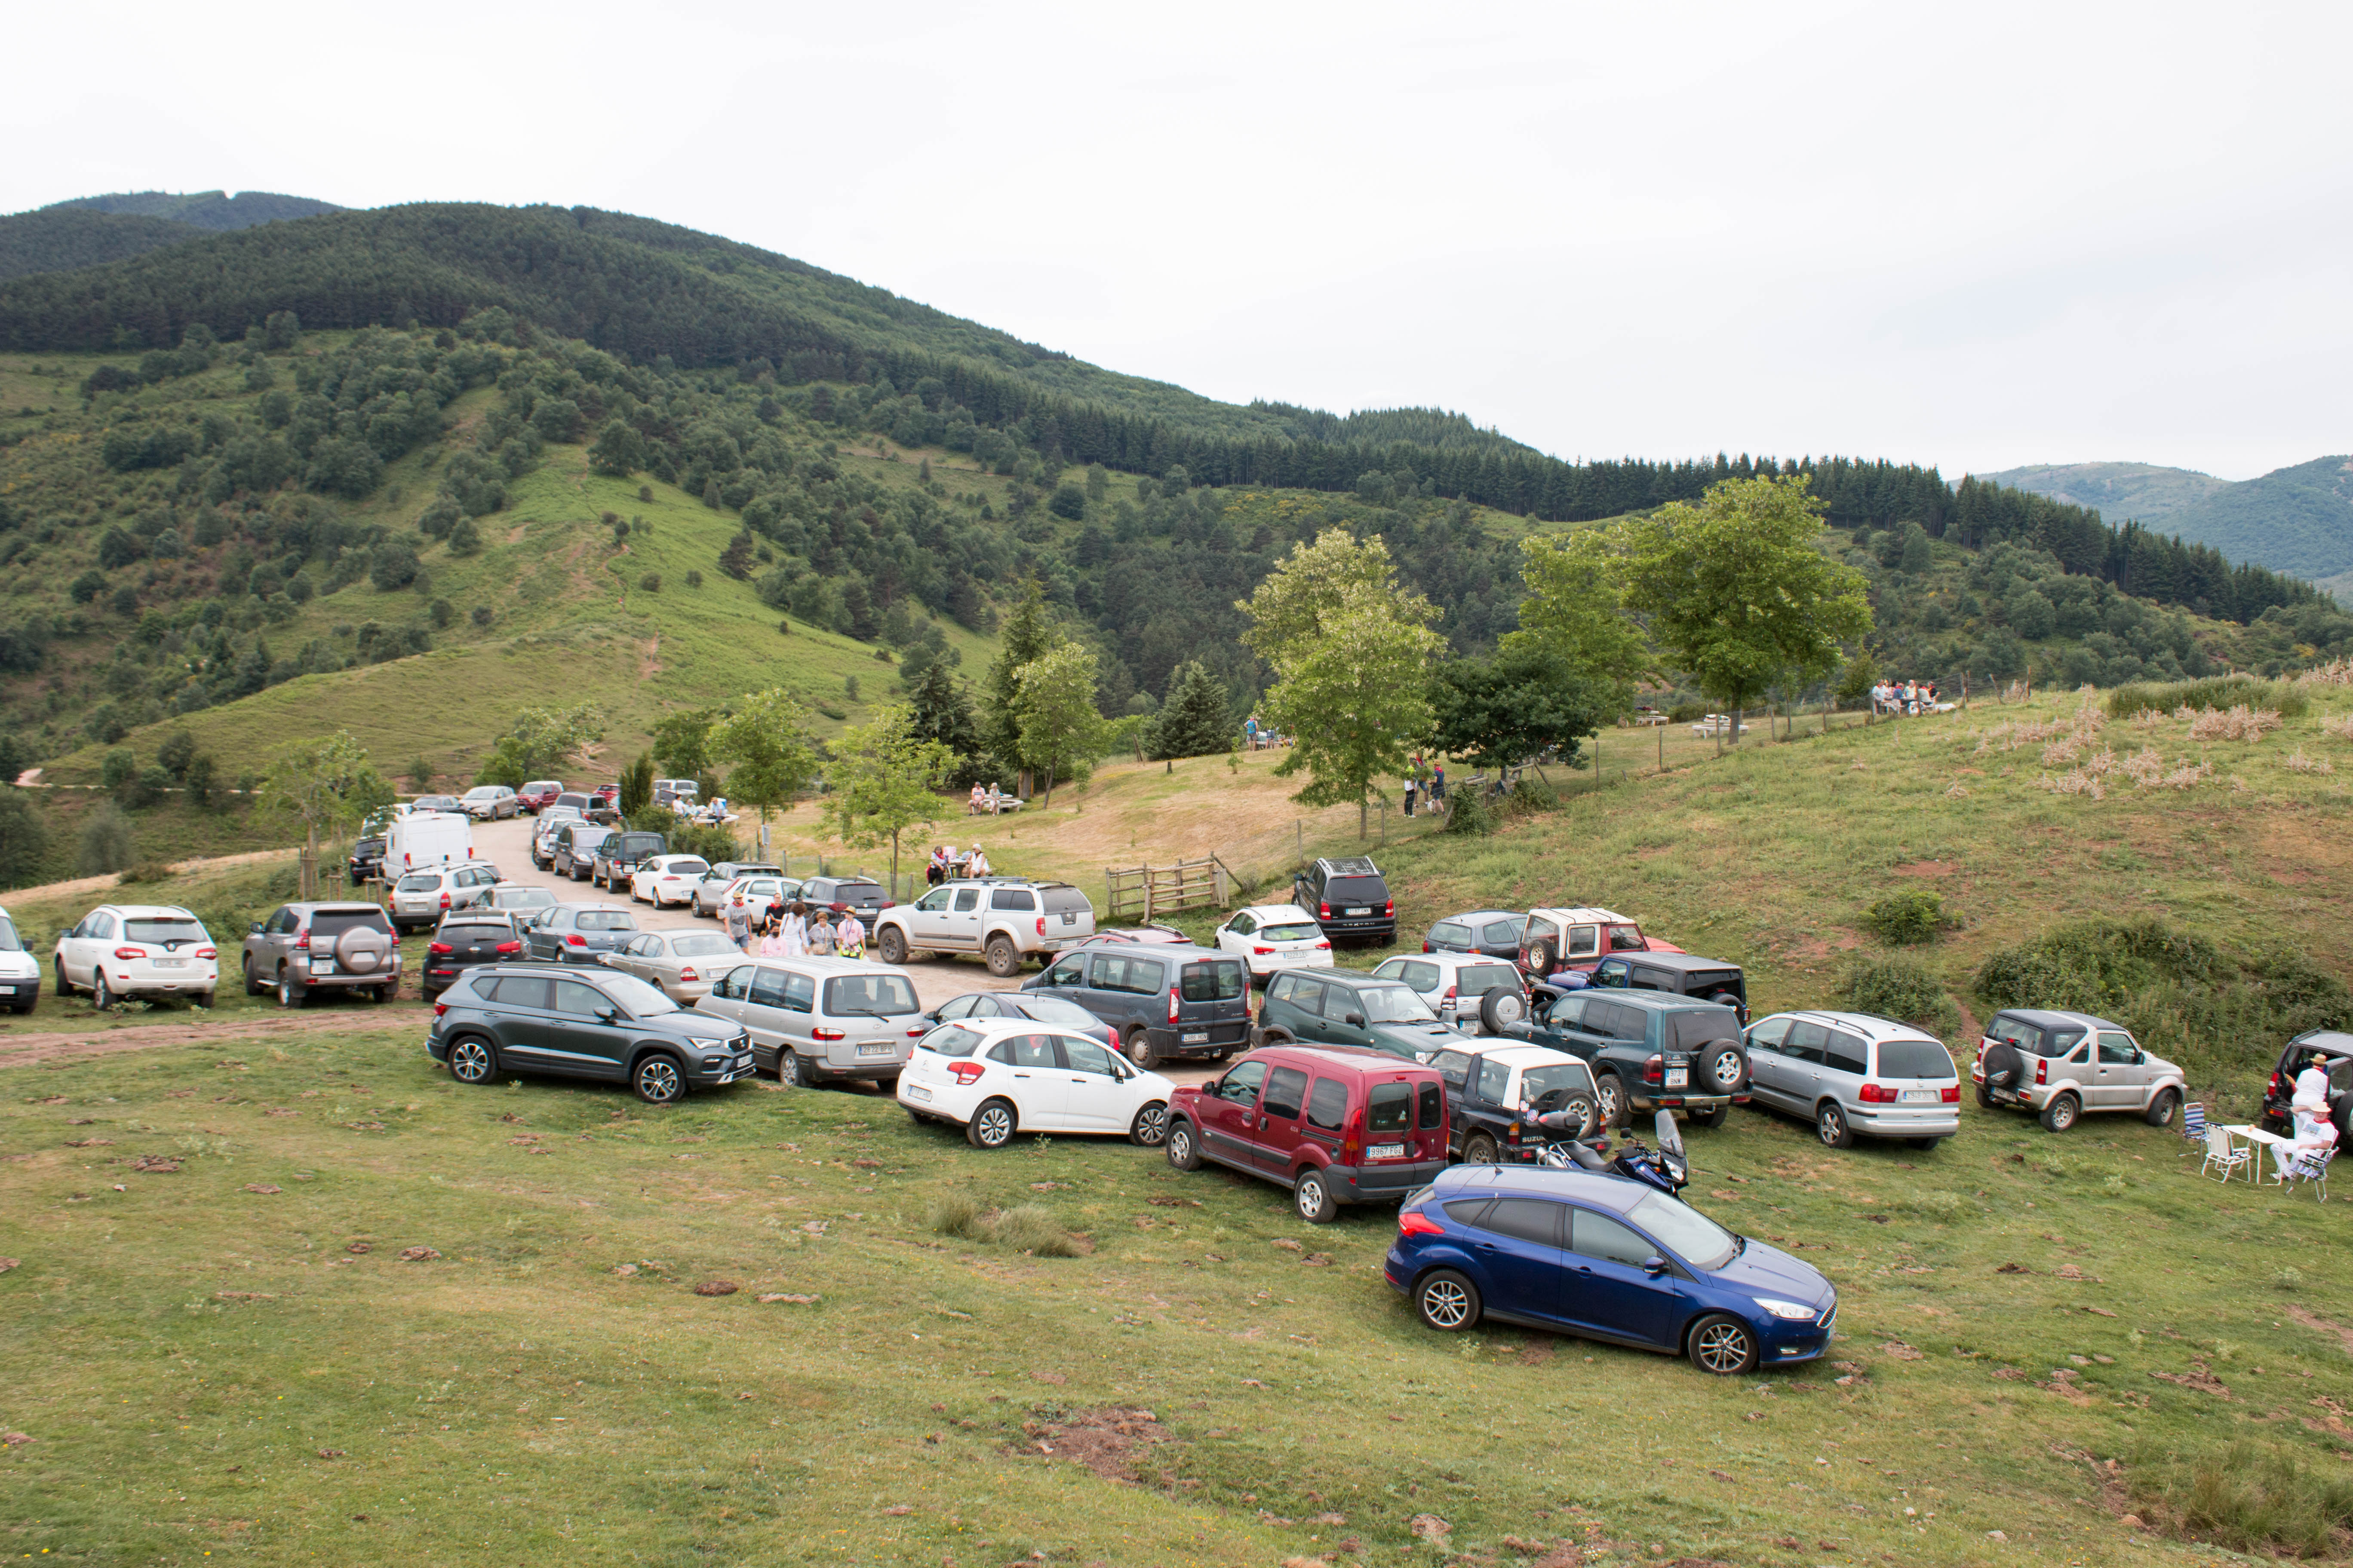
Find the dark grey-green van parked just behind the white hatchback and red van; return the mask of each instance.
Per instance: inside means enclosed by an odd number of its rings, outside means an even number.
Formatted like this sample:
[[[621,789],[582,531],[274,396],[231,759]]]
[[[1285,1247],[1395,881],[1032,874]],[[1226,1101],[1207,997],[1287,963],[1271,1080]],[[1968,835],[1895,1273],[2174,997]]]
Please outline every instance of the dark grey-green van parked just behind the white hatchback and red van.
[[[1080,947],[1021,985],[1111,1025],[1136,1067],[1249,1048],[1249,971],[1205,947]]]

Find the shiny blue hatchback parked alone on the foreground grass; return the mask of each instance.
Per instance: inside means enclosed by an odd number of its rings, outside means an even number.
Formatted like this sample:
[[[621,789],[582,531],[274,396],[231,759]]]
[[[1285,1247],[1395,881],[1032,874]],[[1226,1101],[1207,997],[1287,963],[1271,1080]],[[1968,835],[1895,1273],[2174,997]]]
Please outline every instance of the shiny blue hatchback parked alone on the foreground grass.
[[[1384,1274],[1440,1333],[1489,1316],[1720,1378],[1812,1361],[1838,1316],[1819,1269],[1595,1171],[1452,1166],[1405,1199]]]

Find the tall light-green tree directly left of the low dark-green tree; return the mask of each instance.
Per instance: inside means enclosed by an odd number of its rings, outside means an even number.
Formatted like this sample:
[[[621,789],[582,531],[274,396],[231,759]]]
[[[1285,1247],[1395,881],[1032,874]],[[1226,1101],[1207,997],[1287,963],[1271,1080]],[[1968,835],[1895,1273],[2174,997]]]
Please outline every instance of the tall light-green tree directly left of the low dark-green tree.
[[[1242,639],[1275,670],[1266,717],[1299,738],[1275,776],[1311,776],[1292,795],[1304,806],[1355,802],[1365,837],[1374,780],[1402,771],[1431,729],[1428,663],[1445,646],[1431,630],[1438,611],[1395,583],[1379,538],[1325,529],[1259,583],[1242,614]]]

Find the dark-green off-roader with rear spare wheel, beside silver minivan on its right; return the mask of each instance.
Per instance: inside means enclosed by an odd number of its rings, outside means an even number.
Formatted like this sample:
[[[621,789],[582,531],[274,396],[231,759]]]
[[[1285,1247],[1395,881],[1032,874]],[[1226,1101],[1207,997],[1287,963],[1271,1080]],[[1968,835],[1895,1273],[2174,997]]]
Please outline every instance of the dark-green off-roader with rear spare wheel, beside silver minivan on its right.
[[[1748,1048],[1729,1006],[1664,992],[1532,990],[1537,1011],[1504,1032],[1593,1067],[1602,1126],[1661,1107],[1722,1126],[1748,1103]]]

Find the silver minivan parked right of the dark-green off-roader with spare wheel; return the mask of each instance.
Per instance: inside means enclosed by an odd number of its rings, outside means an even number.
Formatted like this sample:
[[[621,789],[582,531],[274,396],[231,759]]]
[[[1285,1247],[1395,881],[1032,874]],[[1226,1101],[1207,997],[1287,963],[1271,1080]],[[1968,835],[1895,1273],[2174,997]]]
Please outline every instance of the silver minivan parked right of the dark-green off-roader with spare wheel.
[[[1953,1053],[1908,1023],[1868,1013],[1774,1013],[1748,1027],[1748,1095],[1814,1124],[1842,1150],[1904,1138],[1934,1150],[1960,1131]]]

